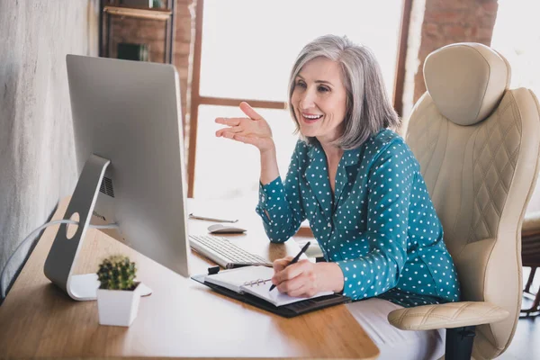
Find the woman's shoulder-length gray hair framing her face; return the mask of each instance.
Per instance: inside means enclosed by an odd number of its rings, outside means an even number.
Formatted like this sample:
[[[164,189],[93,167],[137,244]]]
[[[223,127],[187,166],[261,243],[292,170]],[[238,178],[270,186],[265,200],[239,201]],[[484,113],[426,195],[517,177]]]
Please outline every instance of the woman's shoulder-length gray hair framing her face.
[[[302,49],[291,71],[288,105],[296,122],[296,132],[300,130],[300,123],[291,103],[295,78],[308,61],[319,57],[339,63],[347,90],[345,130],[333,145],[345,150],[358,148],[379,130],[399,127],[401,120],[390,103],[381,67],[373,51],[364,45],[356,45],[346,36],[325,35]],[[310,144],[316,140],[311,137],[302,139]]]

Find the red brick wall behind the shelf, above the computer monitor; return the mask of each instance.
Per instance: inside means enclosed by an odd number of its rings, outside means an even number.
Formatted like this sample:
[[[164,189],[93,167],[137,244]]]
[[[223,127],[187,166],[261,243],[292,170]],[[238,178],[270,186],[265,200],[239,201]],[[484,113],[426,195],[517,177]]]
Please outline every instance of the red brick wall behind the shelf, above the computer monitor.
[[[163,1],[166,4],[166,0]],[[182,103],[182,121],[188,110],[188,75],[190,53],[193,45],[194,6],[196,0],[175,0],[175,46],[173,64],[180,78],[180,99]],[[194,35],[194,34],[193,34]],[[145,43],[149,48],[149,60],[163,62],[165,54],[165,22],[155,20],[112,17],[111,22],[111,57],[116,58],[116,46],[119,42]]]

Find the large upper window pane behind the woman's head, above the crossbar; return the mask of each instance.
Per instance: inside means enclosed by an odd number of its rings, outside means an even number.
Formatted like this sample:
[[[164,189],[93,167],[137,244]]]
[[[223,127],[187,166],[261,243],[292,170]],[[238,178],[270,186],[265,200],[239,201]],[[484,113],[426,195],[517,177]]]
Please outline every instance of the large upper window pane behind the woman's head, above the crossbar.
[[[286,101],[302,47],[325,34],[374,50],[390,95],[403,0],[205,0],[201,94]]]

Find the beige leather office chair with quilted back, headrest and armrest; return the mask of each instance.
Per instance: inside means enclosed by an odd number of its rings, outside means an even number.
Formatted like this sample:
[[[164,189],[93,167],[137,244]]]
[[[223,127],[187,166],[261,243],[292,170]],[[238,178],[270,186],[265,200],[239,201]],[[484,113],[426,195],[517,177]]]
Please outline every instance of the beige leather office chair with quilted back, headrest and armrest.
[[[392,311],[388,320],[399,329],[446,328],[446,359],[491,359],[509,347],[518,324],[539,105],[525,88],[508,90],[509,63],[482,44],[434,51],[424,77],[428,92],[410,115],[407,143],[442,221],[462,302]]]

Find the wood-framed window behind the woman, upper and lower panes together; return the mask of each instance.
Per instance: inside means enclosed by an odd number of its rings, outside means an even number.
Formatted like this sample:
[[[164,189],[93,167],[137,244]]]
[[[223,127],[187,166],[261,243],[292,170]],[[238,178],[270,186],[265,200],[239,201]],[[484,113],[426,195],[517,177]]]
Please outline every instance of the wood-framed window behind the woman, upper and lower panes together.
[[[403,0],[204,0],[193,60],[190,195],[257,199],[257,148],[214,135],[216,117],[243,116],[241,101],[272,126],[284,177],[297,140],[284,110],[289,74],[302,47],[320,35],[347,35],[373,49],[392,96],[402,9]]]

